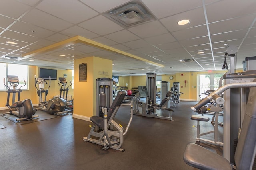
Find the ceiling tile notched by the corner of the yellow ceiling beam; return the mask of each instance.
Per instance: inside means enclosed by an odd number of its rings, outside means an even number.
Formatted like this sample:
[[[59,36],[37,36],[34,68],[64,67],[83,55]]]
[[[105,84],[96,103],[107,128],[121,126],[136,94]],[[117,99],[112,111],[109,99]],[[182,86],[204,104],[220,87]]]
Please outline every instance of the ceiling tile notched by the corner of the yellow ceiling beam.
[[[61,31],[60,33],[67,35],[69,37],[74,37],[76,35],[80,35],[80,36],[88,38],[88,39],[99,37],[98,34],[88,31],[84,28],[78,27],[76,25]]]

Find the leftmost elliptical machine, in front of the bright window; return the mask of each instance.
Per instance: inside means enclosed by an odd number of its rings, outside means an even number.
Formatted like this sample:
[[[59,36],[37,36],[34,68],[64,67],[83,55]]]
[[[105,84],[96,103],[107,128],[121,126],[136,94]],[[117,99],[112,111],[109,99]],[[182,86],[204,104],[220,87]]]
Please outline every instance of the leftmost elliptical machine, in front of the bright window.
[[[25,79],[23,79],[25,84],[23,86],[20,86],[18,90],[16,90],[17,86],[20,83],[18,76],[7,75],[7,80],[8,80],[8,83],[10,83],[10,86],[13,87],[13,90],[11,90],[10,87],[5,84],[5,78],[4,78],[4,86],[8,87],[8,90],[6,91],[8,94],[7,94],[7,102],[5,106],[7,106],[10,109],[10,111],[3,113],[3,115],[12,114],[17,117],[20,117],[19,119],[16,119],[16,121],[30,120],[38,117],[38,115],[34,115],[36,111],[34,110],[32,101],[30,99],[25,99],[20,101],[20,93],[22,92],[20,88],[26,85]],[[10,99],[11,93],[12,93],[12,105],[10,106],[9,99]],[[18,102],[15,102],[16,93],[18,93]]]

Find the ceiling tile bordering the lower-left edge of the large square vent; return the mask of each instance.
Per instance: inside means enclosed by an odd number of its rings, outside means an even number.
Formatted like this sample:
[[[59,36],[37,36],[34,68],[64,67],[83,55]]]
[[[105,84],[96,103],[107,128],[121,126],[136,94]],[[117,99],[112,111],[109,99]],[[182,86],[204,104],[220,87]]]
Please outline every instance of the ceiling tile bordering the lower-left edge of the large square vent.
[[[123,27],[117,25],[116,23],[102,15],[96,16],[90,20],[80,23],[79,26],[99,35],[107,35],[124,29]]]

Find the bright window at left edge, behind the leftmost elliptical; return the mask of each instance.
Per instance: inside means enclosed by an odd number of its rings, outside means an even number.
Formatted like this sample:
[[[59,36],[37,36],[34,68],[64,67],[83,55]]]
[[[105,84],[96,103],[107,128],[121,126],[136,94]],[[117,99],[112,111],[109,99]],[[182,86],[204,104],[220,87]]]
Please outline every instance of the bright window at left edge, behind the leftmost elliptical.
[[[15,75],[18,76],[20,83],[18,85],[18,88],[20,86],[23,86],[28,82],[28,66],[26,65],[19,65],[19,64],[6,64],[6,63],[0,63],[0,76],[2,78],[5,78],[5,83],[7,83],[7,75]],[[7,85],[7,84],[6,84]],[[12,89],[10,86],[10,83],[8,83],[8,86]],[[23,86],[21,88],[22,90],[28,90],[28,84]],[[7,87],[4,86],[3,83],[0,83],[0,90],[4,91],[7,90]]]

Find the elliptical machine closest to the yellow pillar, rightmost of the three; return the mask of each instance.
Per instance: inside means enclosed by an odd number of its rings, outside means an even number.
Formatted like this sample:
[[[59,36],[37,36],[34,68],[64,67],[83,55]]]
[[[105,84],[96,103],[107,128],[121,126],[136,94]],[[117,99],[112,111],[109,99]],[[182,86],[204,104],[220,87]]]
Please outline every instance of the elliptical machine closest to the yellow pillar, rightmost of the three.
[[[68,87],[72,86],[71,80],[69,80],[69,82],[70,82],[70,85],[67,86],[68,83],[67,83],[67,80],[66,80],[65,77],[59,77],[59,79],[58,79],[58,84],[59,84],[59,86],[60,86],[60,97],[64,98],[64,99],[67,101],[67,106],[66,106],[66,108],[73,110],[73,108],[74,108],[74,106],[73,106],[73,99],[68,100],[68,90],[69,90]],[[62,86],[60,85],[60,83],[61,83],[61,85],[63,86],[63,88],[62,88]],[[67,87],[66,87],[66,86],[67,86]],[[62,92],[63,92],[63,96],[62,96]],[[65,93],[66,93],[66,96],[65,96]]]

